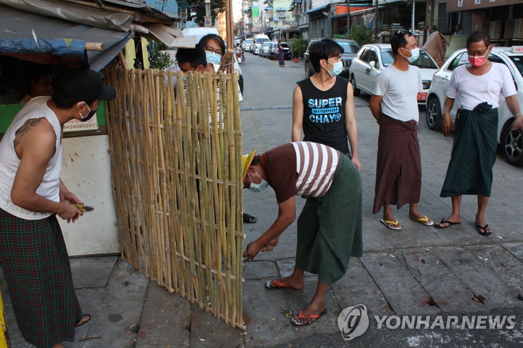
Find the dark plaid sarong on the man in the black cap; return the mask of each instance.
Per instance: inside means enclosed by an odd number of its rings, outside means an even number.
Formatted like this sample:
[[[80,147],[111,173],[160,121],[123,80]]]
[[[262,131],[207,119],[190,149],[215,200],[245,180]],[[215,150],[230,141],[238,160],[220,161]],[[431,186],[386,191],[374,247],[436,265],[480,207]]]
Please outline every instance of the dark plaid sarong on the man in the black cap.
[[[24,339],[46,348],[73,341],[82,309],[56,216],[26,220],[0,209],[0,260]]]

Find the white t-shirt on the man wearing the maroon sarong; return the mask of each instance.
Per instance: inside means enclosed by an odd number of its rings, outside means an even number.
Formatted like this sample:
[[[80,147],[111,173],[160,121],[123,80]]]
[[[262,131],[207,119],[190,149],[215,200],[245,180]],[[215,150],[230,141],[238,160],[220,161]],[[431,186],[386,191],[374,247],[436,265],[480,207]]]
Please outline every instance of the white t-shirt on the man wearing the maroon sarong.
[[[389,65],[376,76],[372,94],[383,96],[383,114],[403,122],[418,122],[418,92],[422,90],[422,74],[417,66],[409,65],[407,71],[400,71]]]

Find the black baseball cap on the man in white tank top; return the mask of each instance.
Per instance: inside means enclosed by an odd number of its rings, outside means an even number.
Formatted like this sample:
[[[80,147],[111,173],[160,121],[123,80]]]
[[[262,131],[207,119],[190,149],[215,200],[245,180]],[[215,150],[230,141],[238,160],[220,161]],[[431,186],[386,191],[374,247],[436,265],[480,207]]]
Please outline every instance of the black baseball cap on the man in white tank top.
[[[71,68],[58,78],[56,84],[67,98],[75,101],[116,98],[115,88],[104,85],[100,75],[88,68]]]

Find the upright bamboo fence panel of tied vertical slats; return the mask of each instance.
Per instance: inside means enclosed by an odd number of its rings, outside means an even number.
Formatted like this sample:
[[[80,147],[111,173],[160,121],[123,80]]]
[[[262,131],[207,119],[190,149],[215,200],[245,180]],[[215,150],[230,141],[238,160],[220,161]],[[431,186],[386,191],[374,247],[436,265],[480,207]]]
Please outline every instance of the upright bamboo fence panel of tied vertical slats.
[[[122,259],[244,329],[238,75],[108,68],[106,79]]]

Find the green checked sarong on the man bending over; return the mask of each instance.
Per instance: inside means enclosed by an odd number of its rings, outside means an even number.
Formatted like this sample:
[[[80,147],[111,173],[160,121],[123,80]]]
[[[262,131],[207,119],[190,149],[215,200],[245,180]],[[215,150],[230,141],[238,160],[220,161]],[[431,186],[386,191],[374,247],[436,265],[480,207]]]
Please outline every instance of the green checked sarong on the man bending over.
[[[298,218],[296,267],[332,284],[345,274],[351,256],[363,256],[361,177],[341,155],[327,193],[308,198]]]

